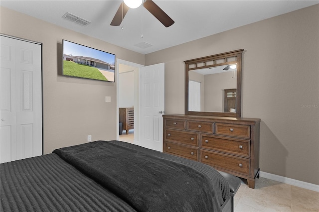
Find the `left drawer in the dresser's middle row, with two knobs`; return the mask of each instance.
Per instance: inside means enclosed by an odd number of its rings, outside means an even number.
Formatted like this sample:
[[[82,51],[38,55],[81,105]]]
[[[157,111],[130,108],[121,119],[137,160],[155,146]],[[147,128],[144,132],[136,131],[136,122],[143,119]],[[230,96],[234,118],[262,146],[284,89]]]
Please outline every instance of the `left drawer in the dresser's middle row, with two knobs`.
[[[198,146],[198,133],[180,131],[174,129],[165,129],[164,139],[166,141],[174,141],[192,146]]]

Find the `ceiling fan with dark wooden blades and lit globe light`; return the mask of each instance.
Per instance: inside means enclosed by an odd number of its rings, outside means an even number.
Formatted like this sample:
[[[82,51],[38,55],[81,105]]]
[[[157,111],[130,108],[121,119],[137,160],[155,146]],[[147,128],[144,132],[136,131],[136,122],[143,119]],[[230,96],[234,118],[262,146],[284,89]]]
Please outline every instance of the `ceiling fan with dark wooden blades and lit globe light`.
[[[174,23],[174,21],[153,0],[140,0],[140,2],[141,3],[136,7],[143,4],[143,6],[149,10],[149,12],[151,12],[165,27],[171,26]],[[130,7],[122,1],[119,9],[114,15],[111,26],[119,26]]]

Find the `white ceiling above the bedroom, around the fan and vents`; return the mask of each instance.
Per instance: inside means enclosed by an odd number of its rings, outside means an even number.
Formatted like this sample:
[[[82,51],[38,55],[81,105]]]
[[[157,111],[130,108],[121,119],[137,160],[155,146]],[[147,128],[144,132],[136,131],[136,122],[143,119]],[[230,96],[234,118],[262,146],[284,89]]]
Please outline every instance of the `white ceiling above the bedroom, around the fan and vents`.
[[[164,27],[148,10],[130,9],[123,27],[110,23],[121,0],[0,0],[0,5],[100,40],[147,54],[318,4],[319,0],[154,0],[174,21]],[[91,21],[81,26],[62,16]],[[3,18],[3,17],[1,17]],[[76,41],[74,41],[76,42]],[[146,42],[152,46],[141,48]]]

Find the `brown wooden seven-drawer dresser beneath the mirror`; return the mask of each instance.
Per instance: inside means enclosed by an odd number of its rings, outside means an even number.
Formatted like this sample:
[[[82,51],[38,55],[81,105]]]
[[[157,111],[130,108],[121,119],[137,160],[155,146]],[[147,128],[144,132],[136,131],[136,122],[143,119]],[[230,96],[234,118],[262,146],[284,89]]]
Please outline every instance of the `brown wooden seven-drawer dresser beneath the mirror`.
[[[163,115],[163,152],[247,179],[259,177],[259,118]]]

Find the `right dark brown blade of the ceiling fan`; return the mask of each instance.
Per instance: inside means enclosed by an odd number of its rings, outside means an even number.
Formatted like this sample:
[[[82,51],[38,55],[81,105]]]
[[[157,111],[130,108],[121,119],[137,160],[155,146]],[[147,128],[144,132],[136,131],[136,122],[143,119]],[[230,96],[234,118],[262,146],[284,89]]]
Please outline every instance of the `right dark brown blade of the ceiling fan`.
[[[146,0],[143,6],[149,10],[164,26],[171,26],[175,22],[153,0]]]

